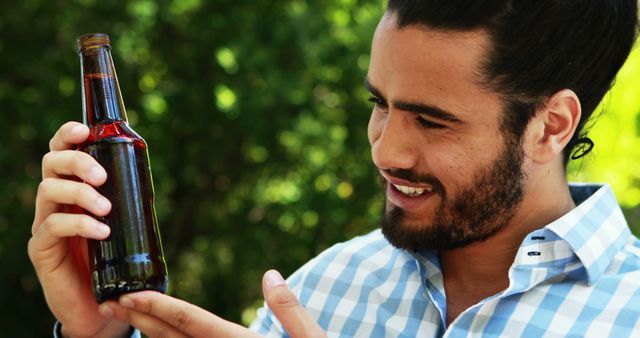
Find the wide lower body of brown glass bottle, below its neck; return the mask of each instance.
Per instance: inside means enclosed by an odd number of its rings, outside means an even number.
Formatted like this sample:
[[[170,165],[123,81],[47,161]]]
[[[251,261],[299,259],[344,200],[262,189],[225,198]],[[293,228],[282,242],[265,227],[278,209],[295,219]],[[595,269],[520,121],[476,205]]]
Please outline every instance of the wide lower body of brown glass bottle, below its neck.
[[[91,128],[79,150],[107,171],[98,192],[111,212],[97,219],[111,228],[101,241],[89,240],[90,268],[98,302],[140,290],[166,292],[168,277],[154,208],[154,191],[145,141],[126,123]]]

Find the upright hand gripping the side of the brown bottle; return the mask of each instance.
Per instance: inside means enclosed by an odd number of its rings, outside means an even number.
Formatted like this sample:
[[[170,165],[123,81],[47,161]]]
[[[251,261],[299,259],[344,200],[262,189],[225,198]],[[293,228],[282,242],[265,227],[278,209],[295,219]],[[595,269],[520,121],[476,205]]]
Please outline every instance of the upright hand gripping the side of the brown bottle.
[[[111,204],[94,188],[106,181],[107,174],[91,156],[72,150],[88,136],[87,126],[68,122],[49,142],[50,151],[42,159],[28,251],[47,304],[62,323],[63,335],[113,337],[126,332],[128,326],[98,312],[86,240],[104,239],[110,229],[84,213],[109,213]]]

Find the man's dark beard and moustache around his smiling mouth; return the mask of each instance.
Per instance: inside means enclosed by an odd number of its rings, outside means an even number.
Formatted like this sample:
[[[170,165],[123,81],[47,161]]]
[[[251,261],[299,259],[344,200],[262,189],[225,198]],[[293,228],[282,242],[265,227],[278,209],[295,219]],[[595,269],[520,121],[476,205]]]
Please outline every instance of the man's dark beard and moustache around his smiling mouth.
[[[390,206],[383,212],[382,234],[393,246],[410,251],[451,250],[486,240],[509,223],[522,201],[523,158],[519,140],[507,140],[496,160],[480,169],[471,183],[461,186],[451,197],[433,175],[406,169],[385,170],[410,182],[430,184],[441,203],[431,224],[405,224],[404,210]]]

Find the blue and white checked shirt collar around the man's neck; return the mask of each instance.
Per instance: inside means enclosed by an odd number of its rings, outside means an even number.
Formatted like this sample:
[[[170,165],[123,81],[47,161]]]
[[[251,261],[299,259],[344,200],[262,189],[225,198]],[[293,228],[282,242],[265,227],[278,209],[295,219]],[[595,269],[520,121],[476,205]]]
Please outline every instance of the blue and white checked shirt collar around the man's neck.
[[[574,271],[574,278],[593,284],[630,238],[631,231],[608,184],[572,183],[569,190],[576,208],[531,232],[520,245],[510,272],[512,284],[518,284],[513,285],[514,291],[529,289],[569,270]],[[412,255],[423,283],[443,290],[437,252]],[[526,277],[517,271],[525,272]]]

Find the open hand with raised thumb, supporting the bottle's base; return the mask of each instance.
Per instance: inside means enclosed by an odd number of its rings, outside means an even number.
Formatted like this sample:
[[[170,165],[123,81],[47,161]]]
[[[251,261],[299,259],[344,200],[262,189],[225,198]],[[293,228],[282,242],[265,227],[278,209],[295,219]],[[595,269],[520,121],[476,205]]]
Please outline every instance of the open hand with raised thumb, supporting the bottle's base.
[[[291,337],[326,337],[278,272],[265,273],[262,291]],[[105,302],[100,305],[100,313],[130,323],[150,337],[260,337],[202,308],[155,291],[131,293],[120,297],[119,302]]]

